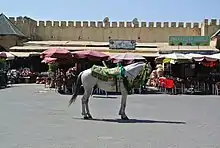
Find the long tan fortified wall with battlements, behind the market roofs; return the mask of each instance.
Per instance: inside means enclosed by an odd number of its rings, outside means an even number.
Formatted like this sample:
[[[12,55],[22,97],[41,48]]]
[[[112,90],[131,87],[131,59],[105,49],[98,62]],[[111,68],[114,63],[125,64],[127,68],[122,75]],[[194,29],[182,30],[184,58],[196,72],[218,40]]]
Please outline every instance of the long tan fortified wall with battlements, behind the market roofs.
[[[128,39],[137,42],[167,42],[169,36],[211,36],[219,21],[203,22],[108,22],[103,21],[36,21],[27,17],[9,18],[32,40],[108,41]]]

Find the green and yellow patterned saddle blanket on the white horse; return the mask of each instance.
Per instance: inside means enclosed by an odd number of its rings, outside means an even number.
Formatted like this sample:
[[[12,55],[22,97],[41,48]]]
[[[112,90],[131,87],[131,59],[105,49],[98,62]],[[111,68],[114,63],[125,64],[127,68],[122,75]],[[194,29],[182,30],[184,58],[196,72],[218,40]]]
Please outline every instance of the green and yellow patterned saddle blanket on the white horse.
[[[92,76],[102,81],[115,80],[120,75],[120,67],[107,68],[93,65],[91,70]]]

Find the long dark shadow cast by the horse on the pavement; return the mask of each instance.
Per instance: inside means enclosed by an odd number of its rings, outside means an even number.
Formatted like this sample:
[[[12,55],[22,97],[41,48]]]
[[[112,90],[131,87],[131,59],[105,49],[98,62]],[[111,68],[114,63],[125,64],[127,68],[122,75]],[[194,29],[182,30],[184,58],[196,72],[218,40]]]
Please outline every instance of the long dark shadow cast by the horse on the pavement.
[[[85,120],[83,118],[73,118],[78,120]],[[145,124],[186,124],[186,122],[180,121],[161,121],[161,120],[139,120],[139,119],[88,119],[89,121],[98,121],[98,122],[113,122],[113,123],[145,123]]]

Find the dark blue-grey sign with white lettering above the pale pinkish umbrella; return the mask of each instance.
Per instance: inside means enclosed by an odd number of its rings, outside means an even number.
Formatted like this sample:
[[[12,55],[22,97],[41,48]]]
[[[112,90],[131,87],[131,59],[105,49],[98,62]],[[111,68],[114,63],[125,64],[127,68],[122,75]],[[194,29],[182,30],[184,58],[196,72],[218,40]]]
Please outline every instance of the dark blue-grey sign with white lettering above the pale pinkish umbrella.
[[[109,49],[129,49],[135,50],[135,40],[109,40]]]

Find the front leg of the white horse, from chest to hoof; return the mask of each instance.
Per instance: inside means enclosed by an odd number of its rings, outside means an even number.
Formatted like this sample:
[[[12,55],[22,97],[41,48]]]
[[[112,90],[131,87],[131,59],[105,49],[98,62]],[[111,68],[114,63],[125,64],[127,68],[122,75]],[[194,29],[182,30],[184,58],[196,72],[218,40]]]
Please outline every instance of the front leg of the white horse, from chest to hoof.
[[[127,96],[128,96],[127,90],[125,88],[121,90],[121,95],[122,95],[122,97],[121,97],[121,107],[119,110],[119,115],[121,116],[122,120],[129,120],[129,118],[127,117],[127,115],[125,113]]]

